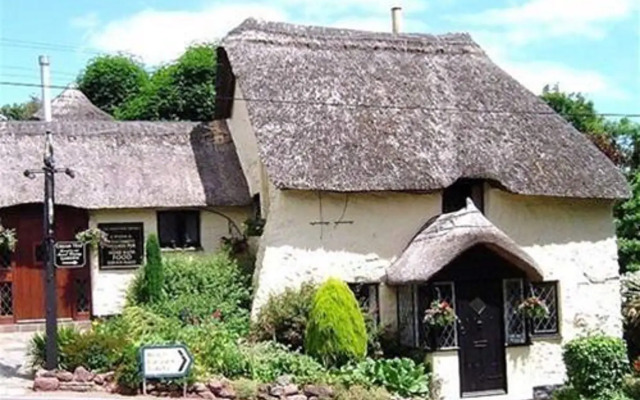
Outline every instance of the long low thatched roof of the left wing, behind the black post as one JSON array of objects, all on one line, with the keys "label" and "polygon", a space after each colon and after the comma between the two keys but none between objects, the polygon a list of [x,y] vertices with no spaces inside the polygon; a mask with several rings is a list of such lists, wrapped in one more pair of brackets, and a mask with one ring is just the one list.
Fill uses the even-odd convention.
[{"label": "long low thatched roof of the left wing, behind the black post", "polygon": [[44,133],[56,164],[76,172],[56,179],[56,203],[142,208],[250,204],[226,123],[54,121],[0,122],[0,207],[42,201]]}]

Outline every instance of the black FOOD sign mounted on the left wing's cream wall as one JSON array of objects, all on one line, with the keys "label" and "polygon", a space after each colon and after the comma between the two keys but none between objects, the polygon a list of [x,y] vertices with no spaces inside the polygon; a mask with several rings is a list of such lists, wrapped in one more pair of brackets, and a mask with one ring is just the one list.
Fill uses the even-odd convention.
[{"label": "black FOOD sign mounted on the left wing's cream wall", "polygon": [[142,264],[144,227],[142,223],[98,224],[107,234],[100,246],[100,268],[134,268]]}]

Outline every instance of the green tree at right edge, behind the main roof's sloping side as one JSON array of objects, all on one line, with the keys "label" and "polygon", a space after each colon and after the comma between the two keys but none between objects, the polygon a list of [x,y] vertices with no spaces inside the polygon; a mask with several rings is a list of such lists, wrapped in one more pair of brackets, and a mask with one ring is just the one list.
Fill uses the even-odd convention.
[{"label": "green tree at right edge, behind the main roof's sloping side", "polygon": [[620,272],[640,270],[640,124],[622,118],[607,120],[593,102],[557,86],[543,90],[542,100],[589,139],[626,175],[631,198],[614,209]]}]

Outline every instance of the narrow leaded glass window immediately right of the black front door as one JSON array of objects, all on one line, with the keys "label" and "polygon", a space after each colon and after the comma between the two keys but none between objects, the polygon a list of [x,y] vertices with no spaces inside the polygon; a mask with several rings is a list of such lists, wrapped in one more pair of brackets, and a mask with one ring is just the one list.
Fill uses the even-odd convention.
[{"label": "narrow leaded glass window immediately right of the black front door", "polygon": [[502,281],[504,298],[504,329],[507,345],[527,343],[527,321],[518,311],[524,300],[524,282],[522,279]]}]

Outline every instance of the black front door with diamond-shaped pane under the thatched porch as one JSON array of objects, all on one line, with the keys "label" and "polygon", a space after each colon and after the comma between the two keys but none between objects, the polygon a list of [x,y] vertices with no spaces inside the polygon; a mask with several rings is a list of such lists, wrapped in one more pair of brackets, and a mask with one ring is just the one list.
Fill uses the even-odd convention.
[{"label": "black front door with diamond-shaped pane under the thatched porch", "polygon": [[501,288],[500,281],[456,282],[463,395],[506,392]]}]

